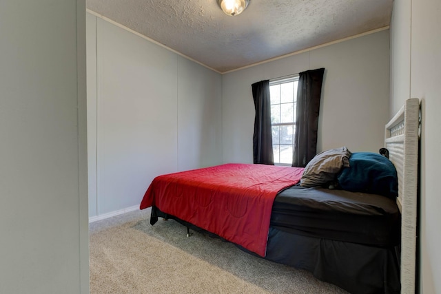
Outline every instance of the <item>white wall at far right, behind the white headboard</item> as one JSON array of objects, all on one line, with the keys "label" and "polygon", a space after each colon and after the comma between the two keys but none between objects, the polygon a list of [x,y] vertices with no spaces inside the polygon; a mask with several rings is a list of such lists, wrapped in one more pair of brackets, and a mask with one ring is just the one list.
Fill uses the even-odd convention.
[{"label": "white wall at far right, behind the white headboard", "polygon": [[[394,112],[406,98],[421,99],[420,159],[420,293],[441,293],[441,198],[439,169],[441,165],[441,2],[439,0],[394,1],[391,31],[391,79],[394,85],[409,84],[403,96],[393,93]],[[409,40],[396,41],[397,36]],[[396,70],[397,63],[409,67],[405,75]],[[401,91],[400,91],[401,92]],[[408,96],[405,93],[409,93]]]}]

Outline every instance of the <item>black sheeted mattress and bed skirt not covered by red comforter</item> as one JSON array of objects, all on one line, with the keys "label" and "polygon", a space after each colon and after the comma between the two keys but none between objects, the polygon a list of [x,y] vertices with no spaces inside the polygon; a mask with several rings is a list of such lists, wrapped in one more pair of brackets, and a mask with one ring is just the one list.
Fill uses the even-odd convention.
[{"label": "black sheeted mattress and bed skirt not covered by red comforter", "polygon": [[265,258],[350,293],[398,294],[400,224],[391,198],[294,186],[274,200]]}]

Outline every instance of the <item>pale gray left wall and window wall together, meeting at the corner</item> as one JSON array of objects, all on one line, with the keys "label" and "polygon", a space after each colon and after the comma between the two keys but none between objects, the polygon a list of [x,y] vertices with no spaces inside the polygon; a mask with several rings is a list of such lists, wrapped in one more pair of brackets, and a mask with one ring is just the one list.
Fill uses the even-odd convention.
[{"label": "pale gray left wall and window wall together, meeting at the corner", "polygon": [[265,78],[325,67],[318,151],[382,147],[389,30],[222,76],[87,17],[90,217],[136,209],[160,174],[252,162],[251,84]]}]

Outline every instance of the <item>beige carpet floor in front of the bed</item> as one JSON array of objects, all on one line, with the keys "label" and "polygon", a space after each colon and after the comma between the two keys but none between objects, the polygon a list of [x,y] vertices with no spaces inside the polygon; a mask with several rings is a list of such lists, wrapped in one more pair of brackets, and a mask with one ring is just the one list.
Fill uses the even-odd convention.
[{"label": "beige carpet floor in front of the bed", "polygon": [[347,293],[150,209],[90,224],[90,293]]}]

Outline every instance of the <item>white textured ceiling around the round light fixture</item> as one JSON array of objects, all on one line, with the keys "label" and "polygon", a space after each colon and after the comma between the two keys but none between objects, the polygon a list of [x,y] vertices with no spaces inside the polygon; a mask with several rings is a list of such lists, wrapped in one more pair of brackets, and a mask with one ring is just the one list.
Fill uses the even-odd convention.
[{"label": "white textured ceiling around the round light fixture", "polygon": [[387,27],[393,0],[86,0],[87,8],[218,72]]}]

